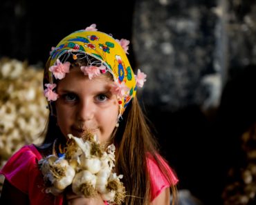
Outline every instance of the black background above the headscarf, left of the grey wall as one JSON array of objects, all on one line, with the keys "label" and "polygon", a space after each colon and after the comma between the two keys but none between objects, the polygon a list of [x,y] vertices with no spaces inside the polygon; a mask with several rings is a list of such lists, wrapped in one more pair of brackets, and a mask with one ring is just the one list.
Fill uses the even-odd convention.
[{"label": "black background above the headscarf, left of the grey wall", "polygon": [[1,1],[0,55],[46,62],[62,37],[92,23],[118,39],[131,39],[134,1]]}]

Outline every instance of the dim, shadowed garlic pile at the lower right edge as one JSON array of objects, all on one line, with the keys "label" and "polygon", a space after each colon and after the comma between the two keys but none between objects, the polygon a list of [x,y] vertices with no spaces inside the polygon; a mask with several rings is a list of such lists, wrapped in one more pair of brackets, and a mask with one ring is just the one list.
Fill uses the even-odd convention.
[{"label": "dim, shadowed garlic pile at the lower right edge", "polygon": [[256,199],[256,123],[241,135],[240,160],[228,170],[222,198],[225,205],[255,204]]}]

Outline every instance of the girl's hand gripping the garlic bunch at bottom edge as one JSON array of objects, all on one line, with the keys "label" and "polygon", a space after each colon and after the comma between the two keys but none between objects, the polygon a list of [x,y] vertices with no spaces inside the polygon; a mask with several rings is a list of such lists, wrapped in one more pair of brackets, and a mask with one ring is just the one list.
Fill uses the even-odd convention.
[{"label": "girl's hand gripping the garlic bunch at bottom edge", "polygon": [[104,205],[103,199],[100,195],[93,198],[86,198],[75,195],[74,193],[66,193],[66,200],[68,205]]}]

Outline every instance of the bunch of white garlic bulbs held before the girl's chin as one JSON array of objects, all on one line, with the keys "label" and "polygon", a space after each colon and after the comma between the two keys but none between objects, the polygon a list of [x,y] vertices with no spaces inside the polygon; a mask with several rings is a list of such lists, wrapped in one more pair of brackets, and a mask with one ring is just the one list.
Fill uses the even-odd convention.
[{"label": "bunch of white garlic bulbs held before the girl's chin", "polygon": [[121,204],[125,198],[122,175],[113,173],[115,146],[104,151],[97,136],[86,133],[82,138],[68,135],[65,154],[62,157],[48,155],[39,161],[44,175],[47,193],[58,195],[67,186],[73,193],[94,197],[100,194],[109,204]]}]

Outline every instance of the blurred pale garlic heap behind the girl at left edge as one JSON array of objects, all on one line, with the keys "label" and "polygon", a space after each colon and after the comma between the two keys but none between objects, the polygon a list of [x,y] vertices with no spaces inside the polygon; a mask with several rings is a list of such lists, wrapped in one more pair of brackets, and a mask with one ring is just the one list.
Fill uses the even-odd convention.
[{"label": "blurred pale garlic heap behind the girl at left edge", "polygon": [[[48,116],[44,69],[0,59],[0,168],[16,150],[39,139]],[[0,176],[0,193],[3,175]]]}]

